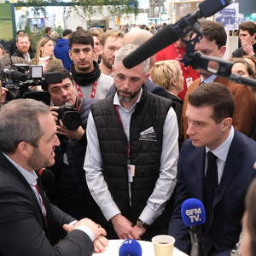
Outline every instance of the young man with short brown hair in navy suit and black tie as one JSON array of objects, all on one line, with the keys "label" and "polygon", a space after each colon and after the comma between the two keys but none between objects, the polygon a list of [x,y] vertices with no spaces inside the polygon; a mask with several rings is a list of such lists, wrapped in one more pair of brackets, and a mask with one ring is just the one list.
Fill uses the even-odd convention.
[{"label": "young man with short brown hair in navy suit and black tie", "polygon": [[[189,94],[186,116],[190,138],[183,144],[178,160],[177,194],[168,230],[176,239],[175,246],[186,253],[191,244],[181,205],[188,198],[197,198],[206,207],[204,255],[230,255],[239,240],[244,198],[255,177],[256,143],[234,129],[233,113],[234,98],[223,84],[201,84]],[[207,192],[208,152],[216,158],[211,199]]]}]

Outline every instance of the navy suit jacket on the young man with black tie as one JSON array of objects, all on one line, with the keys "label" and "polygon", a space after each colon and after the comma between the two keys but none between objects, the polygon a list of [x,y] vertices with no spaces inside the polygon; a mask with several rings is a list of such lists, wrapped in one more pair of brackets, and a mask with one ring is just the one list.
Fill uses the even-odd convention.
[{"label": "navy suit jacket on the young man with black tie", "polygon": [[[188,198],[204,201],[205,147],[195,148],[188,139],[181,150],[177,164],[177,194],[168,233],[175,237],[175,246],[189,253],[189,229],[181,218],[181,205]],[[217,253],[230,256],[230,250],[236,246],[241,232],[241,218],[244,212],[244,200],[247,188],[255,170],[256,143],[235,131],[218,193],[212,206],[210,236],[205,236],[205,255],[213,245]],[[212,241],[211,241],[212,240]]]}]

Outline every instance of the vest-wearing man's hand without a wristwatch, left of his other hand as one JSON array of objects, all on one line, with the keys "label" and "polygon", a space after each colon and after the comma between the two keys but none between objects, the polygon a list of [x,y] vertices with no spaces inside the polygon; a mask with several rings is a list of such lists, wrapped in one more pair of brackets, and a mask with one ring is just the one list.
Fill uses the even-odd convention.
[{"label": "vest-wearing man's hand without a wristwatch, left of his other hand", "polygon": [[132,223],[128,218],[119,213],[111,218],[111,222],[119,239],[135,239],[131,234]]}]

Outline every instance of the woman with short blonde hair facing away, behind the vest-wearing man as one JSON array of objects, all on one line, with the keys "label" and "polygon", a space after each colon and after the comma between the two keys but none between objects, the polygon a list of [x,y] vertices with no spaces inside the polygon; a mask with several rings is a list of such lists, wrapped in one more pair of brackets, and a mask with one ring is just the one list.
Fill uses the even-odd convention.
[{"label": "woman with short blonde hair facing away, behind the vest-wearing man", "polygon": [[[183,72],[177,61],[159,61],[150,69],[150,77],[154,84],[163,87],[173,102],[173,108],[177,115],[177,124],[180,131],[181,114],[183,111],[183,101],[177,94],[183,90]],[[181,146],[182,138],[179,137]]]}]

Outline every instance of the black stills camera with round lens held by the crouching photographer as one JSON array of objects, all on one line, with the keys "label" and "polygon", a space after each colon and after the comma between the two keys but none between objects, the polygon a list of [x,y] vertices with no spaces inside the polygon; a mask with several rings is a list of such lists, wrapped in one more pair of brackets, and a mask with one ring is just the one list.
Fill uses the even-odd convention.
[{"label": "black stills camera with round lens held by the crouching photographer", "polygon": [[61,106],[55,111],[59,113],[58,119],[62,121],[67,130],[76,131],[82,125],[80,113],[72,106]]}]

